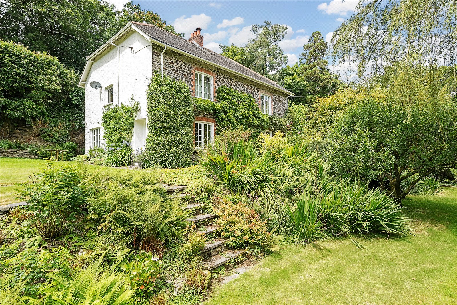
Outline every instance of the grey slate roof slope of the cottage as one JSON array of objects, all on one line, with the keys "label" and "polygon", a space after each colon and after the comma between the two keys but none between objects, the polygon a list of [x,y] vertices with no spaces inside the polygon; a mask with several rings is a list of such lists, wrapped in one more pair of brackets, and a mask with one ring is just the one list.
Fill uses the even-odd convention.
[{"label": "grey slate roof slope of the cottage", "polygon": [[269,87],[274,87],[280,91],[283,91],[283,92],[285,91],[285,92],[289,92],[290,94],[292,94],[292,92],[279,86],[276,82],[273,82],[271,79],[268,79],[265,76],[262,76],[259,73],[252,71],[251,69],[245,67],[244,65],[237,63],[236,61],[234,61],[228,57],[225,57],[221,54],[213,52],[210,49],[206,49],[204,47],[203,48],[199,47],[197,44],[194,44],[184,38],[181,38],[175,34],[167,32],[152,24],[133,22],[133,21],[132,21],[132,24],[134,24],[136,27],[138,27],[141,31],[143,31],[145,34],[147,34],[150,38],[153,38],[153,39],[161,42],[162,44],[166,44],[166,45],[169,45],[176,49],[180,49],[181,51],[190,53],[190,54],[195,55],[204,60],[208,60],[214,64],[221,65],[229,70],[233,70],[233,71],[241,73],[245,76],[254,78],[257,81],[265,83]]}]

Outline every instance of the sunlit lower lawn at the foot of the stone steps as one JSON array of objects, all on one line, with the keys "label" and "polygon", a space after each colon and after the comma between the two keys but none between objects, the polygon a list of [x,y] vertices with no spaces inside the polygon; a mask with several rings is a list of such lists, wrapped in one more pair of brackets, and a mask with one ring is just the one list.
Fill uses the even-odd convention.
[{"label": "sunlit lower lawn at the foot of the stone steps", "polygon": [[404,206],[415,236],[286,245],[205,304],[457,304],[457,188]]}]

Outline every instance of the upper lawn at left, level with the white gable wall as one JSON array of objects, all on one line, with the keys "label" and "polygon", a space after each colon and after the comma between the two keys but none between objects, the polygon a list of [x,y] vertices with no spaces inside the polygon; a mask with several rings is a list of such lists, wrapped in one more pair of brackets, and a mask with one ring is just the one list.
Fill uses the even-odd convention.
[{"label": "upper lawn at left, level with the white gable wall", "polygon": [[[26,158],[0,158],[0,205],[18,202],[17,191],[22,189],[18,183],[29,180],[29,176],[46,167],[47,160]],[[56,162],[57,163],[57,162]],[[61,164],[62,162],[58,162]],[[69,163],[64,161],[64,163]],[[87,165],[106,172],[123,171],[127,169],[110,168],[106,166]]]}]

